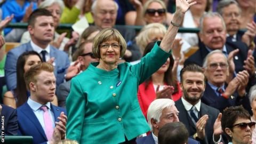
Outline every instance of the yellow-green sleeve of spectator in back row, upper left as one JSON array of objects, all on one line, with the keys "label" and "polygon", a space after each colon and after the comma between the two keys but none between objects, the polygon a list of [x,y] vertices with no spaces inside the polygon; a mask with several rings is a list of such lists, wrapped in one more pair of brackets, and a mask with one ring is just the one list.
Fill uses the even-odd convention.
[{"label": "yellow-green sleeve of spectator in back row, upper left", "polygon": [[68,7],[64,7],[60,23],[75,23],[80,14],[80,10],[77,7],[73,6],[72,9],[68,9]]}]

